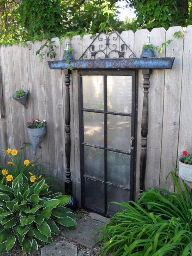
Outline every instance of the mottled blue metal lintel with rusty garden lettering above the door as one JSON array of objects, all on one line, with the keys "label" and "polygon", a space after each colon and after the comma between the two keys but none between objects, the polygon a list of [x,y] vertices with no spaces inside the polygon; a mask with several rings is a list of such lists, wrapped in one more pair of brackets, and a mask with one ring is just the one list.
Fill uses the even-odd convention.
[{"label": "mottled blue metal lintel with rusty garden lettering above the door", "polygon": [[75,59],[48,61],[50,69],[171,69],[175,58]]}]

